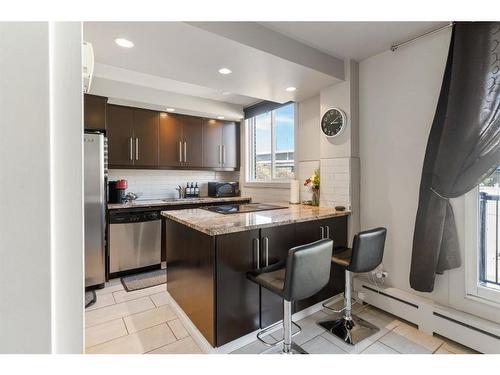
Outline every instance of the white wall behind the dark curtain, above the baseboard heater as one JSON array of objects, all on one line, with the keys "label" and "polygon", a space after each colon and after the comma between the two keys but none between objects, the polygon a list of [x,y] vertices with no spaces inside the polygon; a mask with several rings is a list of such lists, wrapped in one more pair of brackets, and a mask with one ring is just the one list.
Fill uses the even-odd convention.
[{"label": "white wall behind the dark curtain, above the baseboard heater", "polygon": [[[463,293],[464,267],[438,275],[430,294],[417,293],[409,285],[420,177],[450,35],[450,30],[443,31],[360,63],[361,228],[388,229],[383,260],[388,285],[460,307],[456,290]],[[452,204],[463,254],[464,198]],[[458,284],[451,281],[457,274],[462,280]],[[498,310],[481,303],[462,309],[500,320]]]}]

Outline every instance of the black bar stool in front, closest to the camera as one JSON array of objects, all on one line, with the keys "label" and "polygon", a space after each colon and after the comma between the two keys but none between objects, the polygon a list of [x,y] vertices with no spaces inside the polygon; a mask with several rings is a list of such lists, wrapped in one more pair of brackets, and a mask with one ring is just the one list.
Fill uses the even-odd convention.
[{"label": "black bar stool in front, closest to the camera", "polygon": [[[283,298],[283,322],[275,323],[259,332],[257,338],[282,353],[307,354],[292,342],[292,302],[319,292],[330,279],[333,241],[319,240],[288,250],[286,260],[247,273],[250,280]],[[278,324],[283,324],[283,340],[269,344],[261,336]],[[297,325],[296,325],[297,326]],[[299,327],[300,329],[300,327]],[[276,350],[278,352],[278,350]]]}]

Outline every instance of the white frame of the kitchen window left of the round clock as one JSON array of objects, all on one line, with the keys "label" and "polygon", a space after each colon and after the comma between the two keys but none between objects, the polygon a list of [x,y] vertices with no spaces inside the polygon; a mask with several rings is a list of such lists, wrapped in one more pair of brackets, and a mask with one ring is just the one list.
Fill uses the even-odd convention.
[{"label": "white frame of the kitchen window left of the round clock", "polygon": [[[276,111],[282,107],[275,108],[271,111],[264,112],[271,114],[271,179],[269,180],[255,180],[252,179],[254,176],[254,157],[253,152],[255,145],[255,137],[253,136],[253,130],[256,124],[256,117],[251,117],[245,120],[245,186],[247,187],[269,187],[269,188],[286,188],[290,186],[290,181],[296,178],[297,172],[297,103],[287,103],[285,105],[293,106],[293,153],[294,153],[294,177],[291,178],[276,178],[276,129],[275,129],[275,117]],[[262,113],[263,114],[263,113]]]}]

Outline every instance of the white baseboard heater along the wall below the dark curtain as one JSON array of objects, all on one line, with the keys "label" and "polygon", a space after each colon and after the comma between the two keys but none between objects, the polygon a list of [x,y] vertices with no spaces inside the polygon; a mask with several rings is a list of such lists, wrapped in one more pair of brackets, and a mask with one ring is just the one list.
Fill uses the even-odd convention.
[{"label": "white baseboard heater along the wall below the dark curtain", "polygon": [[354,279],[357,298],[428,334],[438,334],[481,353],[500,353],[500,324],[467,314],[397,288],[380,287]]}]

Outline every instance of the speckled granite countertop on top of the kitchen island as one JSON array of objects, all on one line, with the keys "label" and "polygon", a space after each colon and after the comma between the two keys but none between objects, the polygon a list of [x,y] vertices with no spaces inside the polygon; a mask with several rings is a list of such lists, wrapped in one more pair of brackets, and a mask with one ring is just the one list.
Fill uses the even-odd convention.
[{"label": "speckled granite countertop on top of the kitchen island", "polygon": [[282,204],[286,208],[223,215],[200,208],[162,211],[163,217],[177,221],[210,236],[242,232],[245,230],[270,228],[310,220],[328,219],[350,215],[351,211],[337,211],[330,207],[314,207],[302,204]]}]

